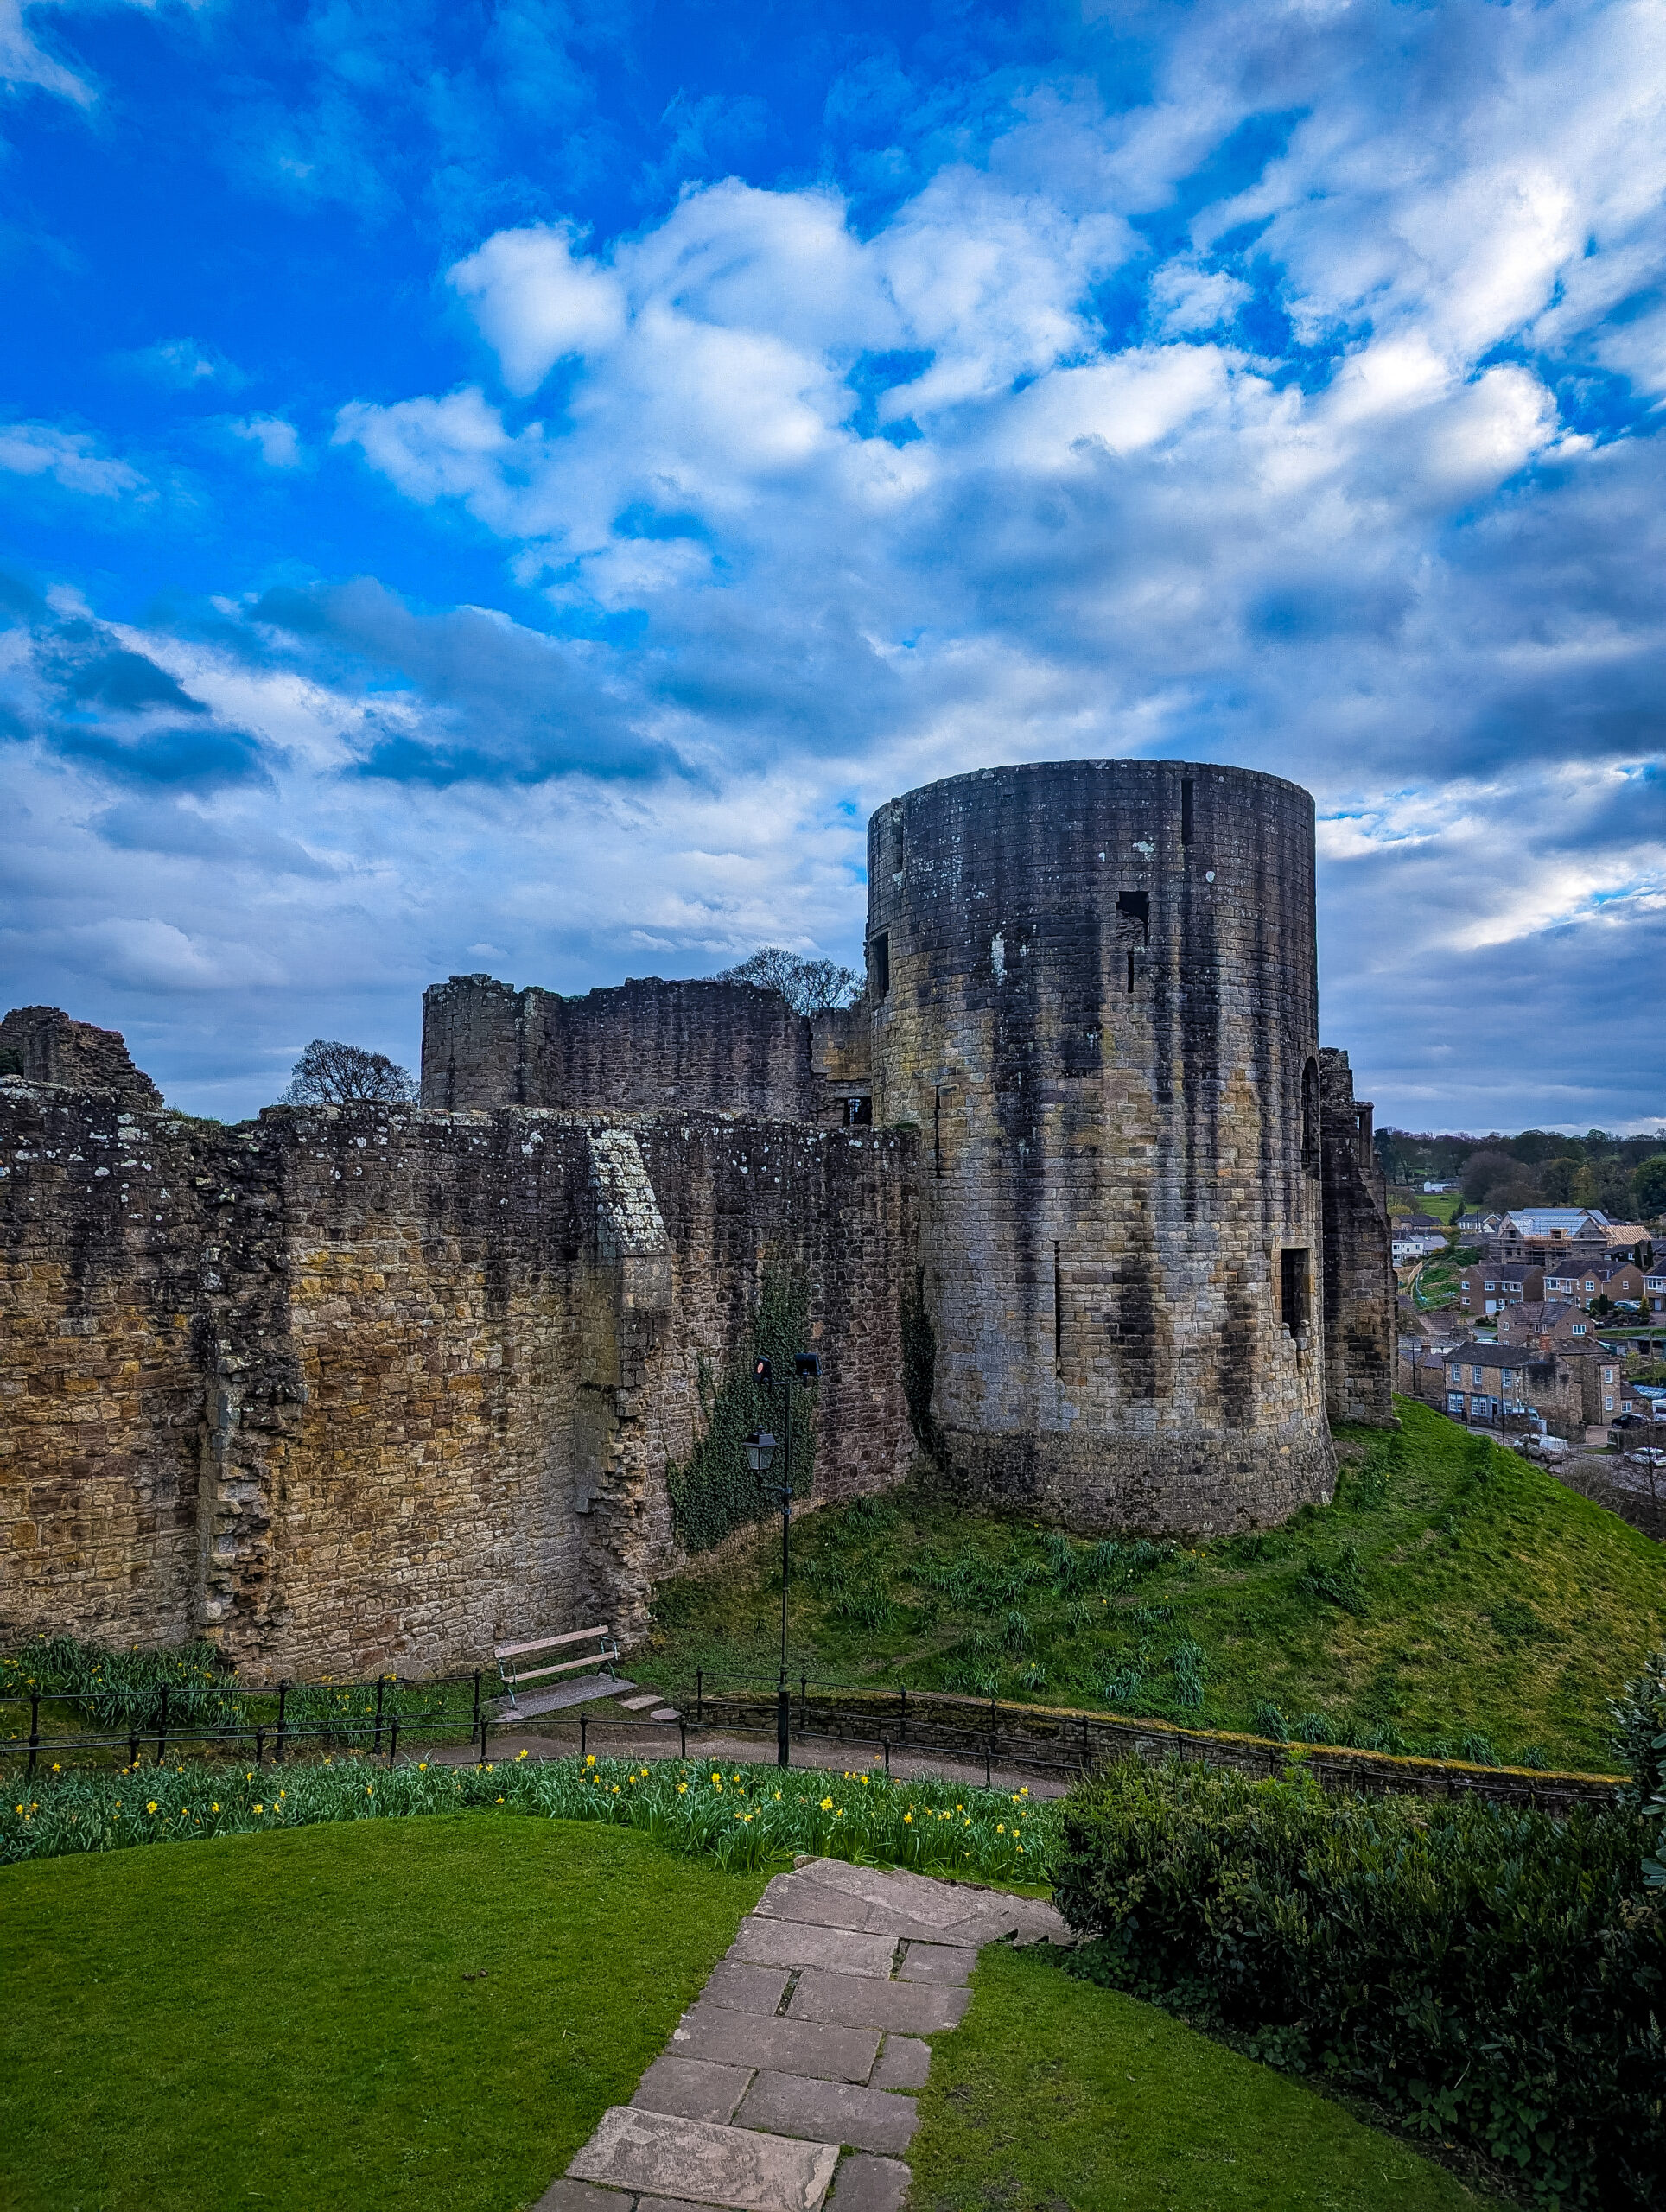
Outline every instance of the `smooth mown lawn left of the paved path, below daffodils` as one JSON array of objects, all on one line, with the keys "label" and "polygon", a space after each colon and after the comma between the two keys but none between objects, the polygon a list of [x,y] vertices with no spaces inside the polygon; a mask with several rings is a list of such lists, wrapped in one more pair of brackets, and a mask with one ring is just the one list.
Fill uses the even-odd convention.
[{"label": "smooth mown lawn left of the paved path, below daffodils", "polygon": [[763,1876],[491,1812],[0,1871],[7,2212],[511,2212]]}]

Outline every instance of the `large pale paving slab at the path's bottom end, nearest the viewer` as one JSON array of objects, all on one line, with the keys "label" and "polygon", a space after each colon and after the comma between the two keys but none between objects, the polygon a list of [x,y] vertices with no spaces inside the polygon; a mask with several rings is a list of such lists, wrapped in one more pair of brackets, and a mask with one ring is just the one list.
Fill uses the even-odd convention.
[{"label": "large pale paving slab at the path's bottom end, nearest the viewer", "polygon": [[569,2174],[642,2197],[677,2190],[688,2203],[732,2212],[821,2212],[836,2163],[836,2141],[792,2141],[615,2104]]}]

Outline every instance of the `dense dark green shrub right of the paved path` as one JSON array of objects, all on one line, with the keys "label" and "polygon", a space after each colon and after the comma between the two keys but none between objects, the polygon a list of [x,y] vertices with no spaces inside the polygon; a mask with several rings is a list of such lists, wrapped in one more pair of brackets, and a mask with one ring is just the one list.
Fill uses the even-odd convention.
[{"label": "dense dark green shrub right of the paved path", "polygon": [[1064,1809],[1077,1971],[1520,2170],[1538,2203],[1666,2203],[1666,1898],[1639,1809],[1325,1794],[1190,1763]]}]

